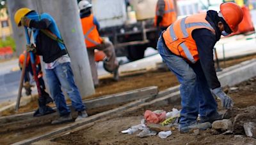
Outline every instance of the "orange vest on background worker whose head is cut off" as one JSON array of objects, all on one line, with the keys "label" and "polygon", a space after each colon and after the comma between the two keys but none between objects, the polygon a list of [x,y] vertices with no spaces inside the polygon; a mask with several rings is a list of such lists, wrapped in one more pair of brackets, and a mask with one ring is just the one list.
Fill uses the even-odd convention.
[{"label": "orange vest on background worker whose head is cut off", "polygon": [[[159,26],[168,27],[177,19],[177,13],[174,9],[173,0],[164,0],[164,15],[163,20],[160,22]],[[158,6],[156,6],[156,16],[155,16],[155,25],[157,22],[158,16]]]}]

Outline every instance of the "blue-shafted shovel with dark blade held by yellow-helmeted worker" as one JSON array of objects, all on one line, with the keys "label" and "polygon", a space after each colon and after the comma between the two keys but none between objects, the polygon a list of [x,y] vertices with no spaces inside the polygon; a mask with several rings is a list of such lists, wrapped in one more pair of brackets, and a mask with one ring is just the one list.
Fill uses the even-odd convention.
[{"label": "blue-shafted shovel with dark blade held by yellow-helmeted worker", "polygon": [[[30,38],[28,35],[28,28],[25,28],[25,34],[26,34],[26,39],[27,39],[27,45],[31,45],[30,44]],[[32,66],[32,70],[33,70],[33,76],[36,82],[36,88],[37,88],[37,92],[38,92],[38,109],[35,111],[34,116],[43,116],[45,114],[50,114],[50,113],[54,113],[54,109],[52,109],[51,107],[47,106],[47,99],[44,96],[44,94],[42,94],[42,90],[40,88],[40,83],[38,81],[38,76],[36,74],[36,64],[35,64],[35,57],[34,57],[34,53],[32,51],[29,51],[29,55],[30,55],[30,60],[31,60],[31,66]]]}]

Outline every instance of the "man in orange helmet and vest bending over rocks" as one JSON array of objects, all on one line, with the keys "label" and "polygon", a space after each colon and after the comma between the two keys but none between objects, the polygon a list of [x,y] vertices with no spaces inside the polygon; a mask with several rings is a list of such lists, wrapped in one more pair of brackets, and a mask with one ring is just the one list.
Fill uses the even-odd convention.
[{"label": "man in orange helmet and vest bending over rocks", "polygon": [[243,11],[237,4],[223,3],[219,13],[209,10],[182,18],[161,34],[157,50],[180,82],[180,133],[191,128],[205,130],[212,121],[222,119],[212,93],[221,100],[222,107],[233,106],[216,76],[213,48],[221,34],[236,32],[242,19]]}]

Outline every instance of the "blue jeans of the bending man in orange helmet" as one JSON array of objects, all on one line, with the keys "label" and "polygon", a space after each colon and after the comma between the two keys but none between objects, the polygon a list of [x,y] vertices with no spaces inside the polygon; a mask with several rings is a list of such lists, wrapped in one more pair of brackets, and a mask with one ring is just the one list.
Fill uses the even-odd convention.
[{"label": "blue jeans of the bending man in orange helmet", "polygon": [[198,113],[204,118],[217,113],[216,100],[207,84],[200,61],[189,64],[182,57],[173,54],[162,37],[157,42],[157,50],[180,82],[180,128],[195,123]]}]

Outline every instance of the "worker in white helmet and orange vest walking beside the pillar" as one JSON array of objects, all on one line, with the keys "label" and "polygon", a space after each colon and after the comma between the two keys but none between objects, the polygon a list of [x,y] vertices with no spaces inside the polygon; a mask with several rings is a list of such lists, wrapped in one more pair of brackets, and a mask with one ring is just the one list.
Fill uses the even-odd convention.
[{"label": "worker in white helmet and orange vest walking beside the pillar", "polygon": [[99,23],[92,14],[92,4],[88,1],[82,0],[78,3],[80,10],[81,24],[83,27],[84,41],[86,43],[87,52],[89,56],[92,78],[94,86],[99,85],[97,68],[95,66],[94,50],[102,50],[106,59],[103,61],[104,69],[113,73],[115,81],[118,80],[118,61],[116,60],[115,49],[113,44],[108,39],[102,39],[99,35]]}]

